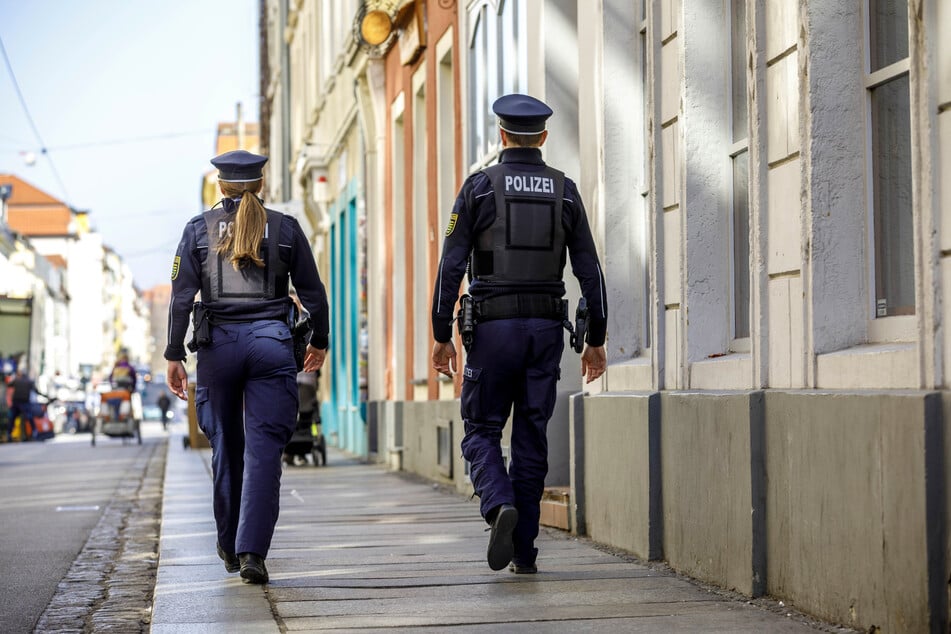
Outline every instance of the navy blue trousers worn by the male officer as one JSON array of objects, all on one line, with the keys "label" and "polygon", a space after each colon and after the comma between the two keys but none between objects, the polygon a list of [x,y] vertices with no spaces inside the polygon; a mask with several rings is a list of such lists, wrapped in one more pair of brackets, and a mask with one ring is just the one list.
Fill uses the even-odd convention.
[{"label": "navy blue trousers worn by the male officer", "polygon": [[[535,561],[540,503],[548,475],[548,419],[555,409],[565,347],[559,321],[498,319],[475,328],[462,384],[462,455],[482,516],[500,504],[518,509],[515,561]],[[512,414],[508,471],[502,429]]]}]

